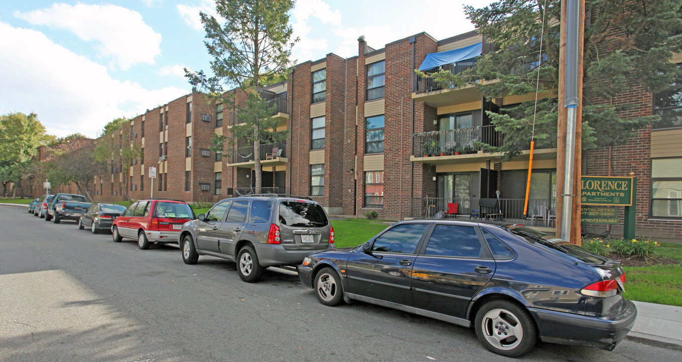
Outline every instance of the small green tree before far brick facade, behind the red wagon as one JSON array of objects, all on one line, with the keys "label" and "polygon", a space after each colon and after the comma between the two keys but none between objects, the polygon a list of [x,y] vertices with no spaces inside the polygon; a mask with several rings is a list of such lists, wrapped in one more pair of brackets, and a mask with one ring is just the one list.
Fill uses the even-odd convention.
[{"label": "small green tree before far brick facade, behind the red wagon", "polygon": [[142,148],[130,141],[130,120],[121,117],[106,124],[102,130],[102,137],[97,140],[93,152],[96,161],[104,165],[121,166],[123,196],[128,201],[132,201],[128,194],[130,167],[133,160],[142,156]]}]

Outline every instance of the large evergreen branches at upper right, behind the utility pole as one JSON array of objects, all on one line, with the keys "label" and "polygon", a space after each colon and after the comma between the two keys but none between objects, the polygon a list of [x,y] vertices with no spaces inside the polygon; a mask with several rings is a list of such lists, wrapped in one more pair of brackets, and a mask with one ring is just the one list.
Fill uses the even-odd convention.
[{"label": "large evergreen branches at upper right, behind the utility pole", "polygon": [[[673,53],[682,51],[682,1],[587,0],[586,8],[590,17],[584,34],[582,148],[621,145],[632,130],[654,122],[657,116],[632,117],[627,109],[633,105],[614,105],[611,99],[634,85],[659,92],[682,75],[670,62]],[[563,106],[556,96],[561,2],[501,0],[484,8],[467,6],[465,12],[497,50],[481,55],[473,68],[458,76],[441,72],[434,78],[445,85],[476,83],[486,98],[496,98],[535,93],[539,72],[535,141],[541,147],[553,145]],[[479,79],[499,81],[477,83]],[[488,115],[505,134],[505,144],[490,150],[511,157],[528,149],[534,101]]]}]

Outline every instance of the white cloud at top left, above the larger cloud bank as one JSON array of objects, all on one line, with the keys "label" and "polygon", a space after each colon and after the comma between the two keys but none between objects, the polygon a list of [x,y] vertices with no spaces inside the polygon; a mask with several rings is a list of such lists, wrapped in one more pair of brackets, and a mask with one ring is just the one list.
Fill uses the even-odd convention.
[{"label": "white cloud at top left, above the larger cloud bank", "polygon": [[138,63],[154,64],[154,57],[161,53],[161,34],[145,24],[140,13],[120,6],[55,3],[52,8],[14,12],[14,16],[99,42],[100,55],[115,59],[123,70]]}]

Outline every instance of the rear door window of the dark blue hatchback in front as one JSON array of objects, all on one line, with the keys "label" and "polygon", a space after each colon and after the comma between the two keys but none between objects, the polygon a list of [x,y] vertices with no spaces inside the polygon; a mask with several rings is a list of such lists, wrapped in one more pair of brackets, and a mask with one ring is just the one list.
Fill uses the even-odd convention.
[{"label": "rear door window of the dark blue hatchback in front", "polygon": [[479,257],[481,242],[471,226],[436,225],[426,245],[426,255]]}]

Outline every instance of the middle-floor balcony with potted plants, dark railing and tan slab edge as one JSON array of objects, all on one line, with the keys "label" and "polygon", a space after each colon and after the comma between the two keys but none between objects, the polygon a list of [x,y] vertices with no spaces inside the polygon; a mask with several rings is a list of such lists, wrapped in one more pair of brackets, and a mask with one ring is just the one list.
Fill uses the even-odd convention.
[{"label": "middle-floor balcony with potted plants, dark railing and tan slab edge", "polygon": [[[483,144],[500,147],[505,144],[505,135],[495,126],[477,126],[457,130],[437,130],[415,133],[412,136],[413,162],[428,165],[453,165],[456,163],[479,163],[503,156],[502,152],[485,152]],[[530,144],[518,155],[517,160],[530,158]],[[533,158],[556,158],[556,140],[536,143]]]}]

